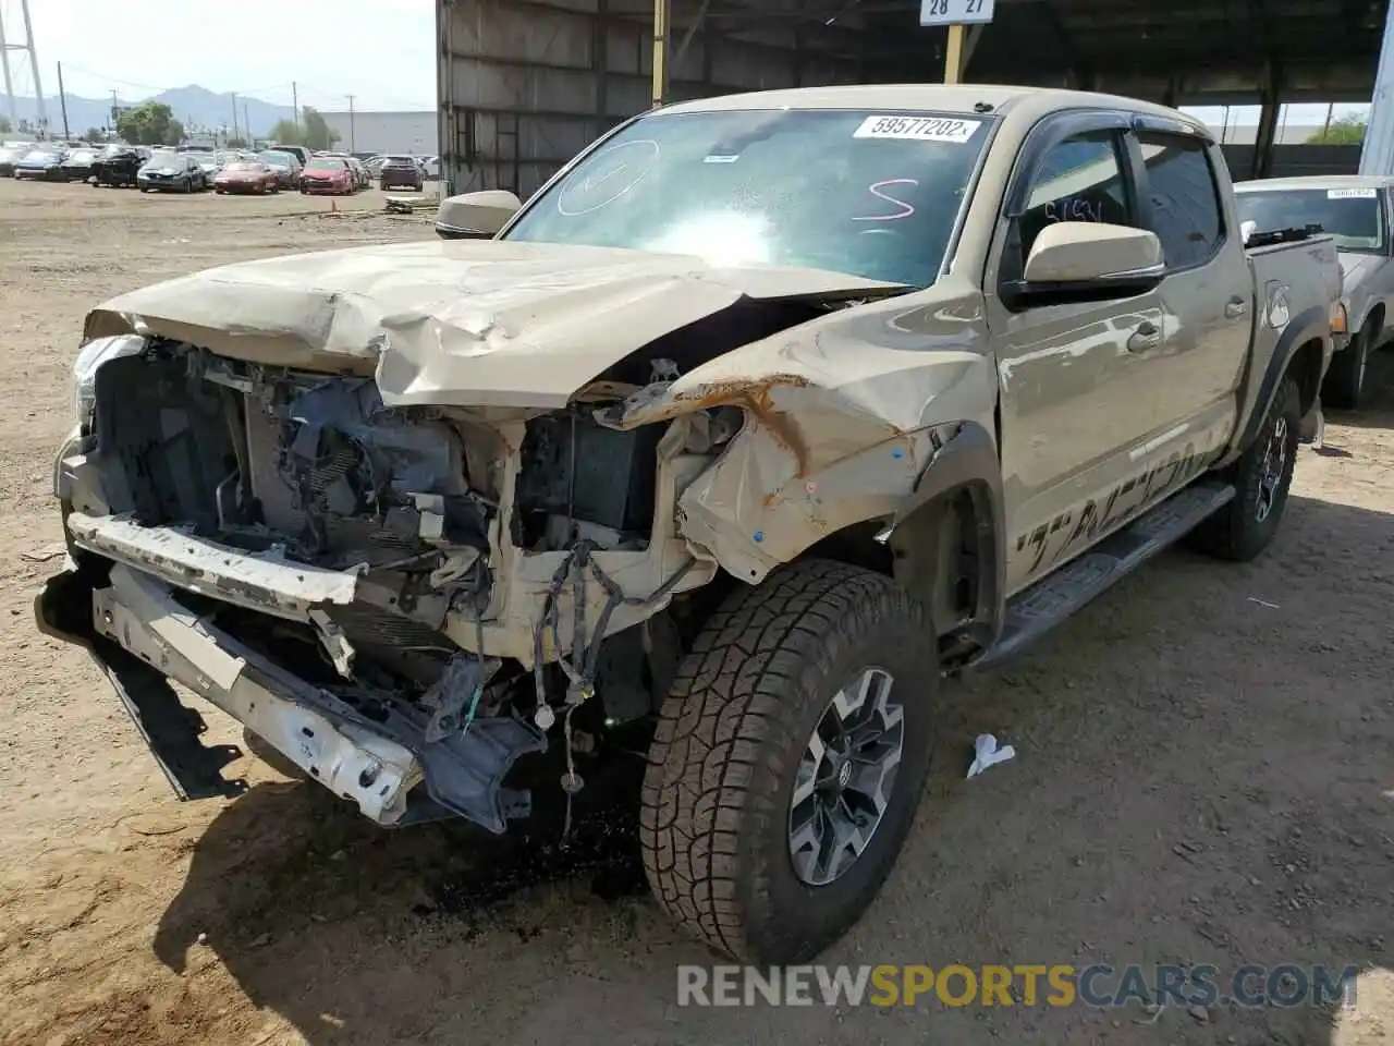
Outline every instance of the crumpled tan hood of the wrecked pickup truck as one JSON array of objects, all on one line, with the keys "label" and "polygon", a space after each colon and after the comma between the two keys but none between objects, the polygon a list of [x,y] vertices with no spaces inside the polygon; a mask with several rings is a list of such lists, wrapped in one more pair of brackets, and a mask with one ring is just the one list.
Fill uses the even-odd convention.
[{"label": "crumpled tan hood of the wrecked pickup truck", "polygon": [[438,240],[158,283],[93,310],[84,342],[138,333],[254,363],[374,374],[388,406],[556,407],[644,344],[742,297],[875,290],[899,287],[691,255]]}]

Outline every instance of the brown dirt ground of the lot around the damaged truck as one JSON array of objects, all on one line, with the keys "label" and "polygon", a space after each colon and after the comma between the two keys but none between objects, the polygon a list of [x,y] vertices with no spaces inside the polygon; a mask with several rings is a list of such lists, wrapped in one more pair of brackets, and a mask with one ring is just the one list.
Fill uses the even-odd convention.
[{"label": "brown dirt ground of the lot around the damaged truck", "polygon": [[[0,180],[0,1040],[1394,1042],[1394,392],[1302,450],[1259,562],[1170,552],[948,688],[906,851],[825,957],[1356,964],[1351,1010],[680,1008],[675,967],[714,958],[645,895],[623,820],[565,852],[549,828],[386,833],[247,759],[245,796],[177,803],[95,667],[31,619],[61,562],[70,365],[112,294],[431,234],[329,209]],[[1372,379],[1394,389],[1394,353]],[[986,731],[1018,759],[965,781]]]}]

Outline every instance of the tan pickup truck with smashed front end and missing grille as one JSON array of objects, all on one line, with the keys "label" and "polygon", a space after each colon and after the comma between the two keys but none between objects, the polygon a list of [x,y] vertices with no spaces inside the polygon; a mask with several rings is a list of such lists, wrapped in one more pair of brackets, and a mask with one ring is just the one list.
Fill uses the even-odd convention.
[{"label": "tan pickup truck with smashed front end and missing grille", "polygon": [[875,895],[942,676],[1269,544],[1341,293],[1103,95],[676,105],[499,201],[96,308],[39,619],[190,796],[237,750],[170,679],[385,826],[503,831],[647,731],[654,891],[761,961]]}]

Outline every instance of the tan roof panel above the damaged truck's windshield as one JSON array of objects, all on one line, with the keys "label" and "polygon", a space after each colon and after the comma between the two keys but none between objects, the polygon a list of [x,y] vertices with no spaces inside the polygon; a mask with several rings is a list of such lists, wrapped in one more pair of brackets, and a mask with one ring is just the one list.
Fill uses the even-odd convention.
[{"label": "tan roof panel above the damaged truck's windshield", "polygon": [[1178,120],[1206,134],[1202,121],[1177,109],[1140,102],[1121,95],[1101,95],[1090,91],[1064,88],[1008,86],[1002,84],[852,84],[842,86],[786,88],[781,91],[751,91],[742,95],[719,95],[665,106],[664,113],[711,113],[740,109],[923,109],[941,113],[1006,113],[1029,102],[1033,109],[1124,109]]}]

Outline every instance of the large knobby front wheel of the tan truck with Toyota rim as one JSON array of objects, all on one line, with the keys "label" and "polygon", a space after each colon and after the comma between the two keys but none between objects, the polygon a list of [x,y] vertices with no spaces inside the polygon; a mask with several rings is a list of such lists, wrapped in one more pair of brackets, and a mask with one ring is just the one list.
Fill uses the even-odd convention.
[{"label": "large knobby front wheel of the tan truck with Toyota rim", "polygon": [[923,608],[860,568],[804,561],[732,593],[664,702],[644,775],[664,909],[750,962],[802,962],[846,933],[924,789],[934,650]]}]

